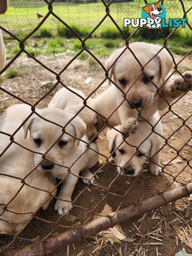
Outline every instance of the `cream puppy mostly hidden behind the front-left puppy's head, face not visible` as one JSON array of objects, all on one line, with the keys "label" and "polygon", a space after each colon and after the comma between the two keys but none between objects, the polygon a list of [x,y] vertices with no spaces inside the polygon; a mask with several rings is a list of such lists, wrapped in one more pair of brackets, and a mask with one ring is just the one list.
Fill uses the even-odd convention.
[{"label": "cream puppy mostly hidden behind the front-left puppy's head, face not visible", "polygon": [[[74,91],[81,97],[78,97],[75,93],[69,91]],[[57,93],[55,93],[53,99],[49,103],[49,108],[60,108],[65,109],[72,114],[77,114],[77,112],[84,106],[83,101],[86,98],[83,92],[76,90],[72,87],[62,88]],[[93,108],[91,99],[87,100],[87,105]],[[78,116],[85,122],[87,126],[86,135],[89,140],[91,140],[97,134],[97,114],[85,107],[81,110]],[[94,138],[97,140],[97,137]]]}]

